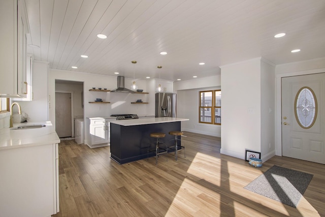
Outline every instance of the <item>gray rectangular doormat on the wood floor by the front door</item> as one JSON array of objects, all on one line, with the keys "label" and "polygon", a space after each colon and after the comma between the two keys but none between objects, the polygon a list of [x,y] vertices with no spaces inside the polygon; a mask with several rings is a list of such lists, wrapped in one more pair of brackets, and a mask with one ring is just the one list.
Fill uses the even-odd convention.
[{"label": "gray rectangular doormat on the wood floor by the front door", "polygon": [[297,207],[312,177],[312,174],[274,165],[247,184],[244,189]]}]

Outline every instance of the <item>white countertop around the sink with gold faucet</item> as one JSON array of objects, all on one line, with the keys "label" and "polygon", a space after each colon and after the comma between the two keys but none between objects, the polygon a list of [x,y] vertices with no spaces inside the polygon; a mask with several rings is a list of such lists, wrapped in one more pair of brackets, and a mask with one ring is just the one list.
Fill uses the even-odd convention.
[{"label": "white countertop around the sink with gold faucet", "polygon": [[[12,130],[23,125],[42,124],[46,127],[35,129]],[[0,150],[59,143],[51,121],[14,123],[13,128],[0,130]]]}]

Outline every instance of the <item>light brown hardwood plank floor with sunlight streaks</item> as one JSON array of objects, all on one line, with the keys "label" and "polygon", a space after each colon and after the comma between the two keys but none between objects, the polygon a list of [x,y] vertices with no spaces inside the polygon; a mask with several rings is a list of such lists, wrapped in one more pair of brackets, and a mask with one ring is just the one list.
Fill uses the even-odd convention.
[{"label": "light brown hardwood plank floor with sunlight streaks", "polygon": [[[273,157],[262,168],[220,154],[220,138],[184,132],[174,155],[119,165],[110,147],[59,144],[60,216],[325,216],[325,165]],[[313,174],[298,207],[244,187],[273,165]]]}]

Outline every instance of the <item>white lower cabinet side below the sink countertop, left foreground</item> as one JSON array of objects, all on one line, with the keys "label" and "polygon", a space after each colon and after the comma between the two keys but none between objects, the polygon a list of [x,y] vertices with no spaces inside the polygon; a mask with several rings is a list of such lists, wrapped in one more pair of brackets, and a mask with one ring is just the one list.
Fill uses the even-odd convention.
[{"label": "white lower cabinet side below the sink countertop, left foreground", "polygon": [[59,211],[58,144],[0,150],[0,216]]}]

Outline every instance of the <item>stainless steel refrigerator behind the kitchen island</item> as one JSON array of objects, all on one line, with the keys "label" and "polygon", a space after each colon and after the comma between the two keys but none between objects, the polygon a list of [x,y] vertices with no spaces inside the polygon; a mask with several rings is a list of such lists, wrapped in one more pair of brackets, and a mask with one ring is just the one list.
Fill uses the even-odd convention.
[{"label": "stainless steel refrigerator behind the kitchen island", "polygon": [[155,104],[156,117],[176,117],[176,94],[157,92]]}]

